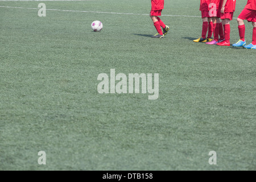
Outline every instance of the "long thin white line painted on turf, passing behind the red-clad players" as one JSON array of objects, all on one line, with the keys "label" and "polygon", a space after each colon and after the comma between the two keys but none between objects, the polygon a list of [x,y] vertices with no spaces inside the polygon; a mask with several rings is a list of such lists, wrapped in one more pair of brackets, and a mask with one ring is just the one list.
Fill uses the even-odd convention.
[{"label": "long thin white line painted on turf, passing behind the red-clad players", "polygon": [[[0,7],[13,8],[13,9],[31,9],[31,10],[39,10],[40,9],[40,8],[35,8],[35,7],[13,7],[13,6],[0,6]],[[47,11],[77,12],[77,13],[105,13],[105,14],[146,15],[146,16],[149,15],[149,14],[135,14],[135,13],[115,13],[115,12],[104,12],[104,11],[79,11],[79,10],[57,10],[57,9],[46,9],[46,10]],[[191,16],[191,15],[162,15],[162,16],[180,16],[180,17],[196,17],[196,18],[201,18],[201,16]]]}]

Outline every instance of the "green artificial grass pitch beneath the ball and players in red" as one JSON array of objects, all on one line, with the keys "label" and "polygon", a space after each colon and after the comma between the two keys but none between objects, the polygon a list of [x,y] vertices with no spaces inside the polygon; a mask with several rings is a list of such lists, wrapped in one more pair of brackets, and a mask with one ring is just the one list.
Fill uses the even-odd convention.
[{"label": "green artificial grass pitch beneath the ball and players in red", "polygon": [[[1,170],[256,169],[256,51],[194,43],[199,1],[165,2],[164,39],[149,0],[42,1],[45,17],[39,3],[0,0]],[[159,98],[98,93],[110,69],[159,73]]]}]

